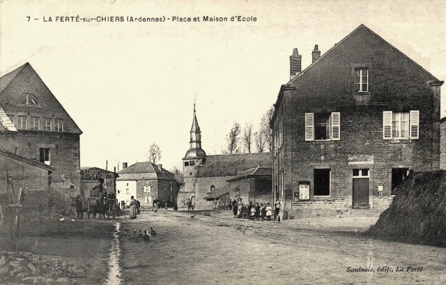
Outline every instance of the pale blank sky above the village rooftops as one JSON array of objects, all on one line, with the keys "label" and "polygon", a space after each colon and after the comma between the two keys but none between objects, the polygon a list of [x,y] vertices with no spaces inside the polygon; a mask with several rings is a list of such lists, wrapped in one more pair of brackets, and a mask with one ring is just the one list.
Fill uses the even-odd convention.
[{"label": "pale blank sky above the village rooftops", "polygon": [[[84,132],[81,166],[145,161],[155,141],[163,167],[180,167],[194,102],[203,149],[221,154],[234,122],[257,128],[272,107],[294,47],[303,69],[315,44],[324,54],[360,24],[446,77],[443,1],[89,2],[0,2],[0,75],[31,63]],[[77,15],[166,22],[56,22]],[[256,22],[202,22],[233,15]]]}]

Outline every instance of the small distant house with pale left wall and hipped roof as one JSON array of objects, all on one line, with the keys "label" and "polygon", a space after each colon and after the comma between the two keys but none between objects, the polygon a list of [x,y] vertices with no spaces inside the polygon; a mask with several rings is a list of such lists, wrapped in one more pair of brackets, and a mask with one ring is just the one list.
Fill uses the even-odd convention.
[{"label": "small distant house with pale left wall and hipped roof", "polygon": [[175,175],[162,168],[162,164],[137,162],[118,172],[116,178],[116,199],[128,205],[130,197],[139,200],[143,206],[152,206],[153,200],[169,202],[174,206],[178,195]]}]

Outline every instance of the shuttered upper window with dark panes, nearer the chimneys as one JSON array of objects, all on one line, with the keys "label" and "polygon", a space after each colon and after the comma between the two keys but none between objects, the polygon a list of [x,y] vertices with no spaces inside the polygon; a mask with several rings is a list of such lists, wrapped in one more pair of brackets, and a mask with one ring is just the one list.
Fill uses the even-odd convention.
[{"label": "shuttered upper window with dark panes, nearer the chimneys", "polygon": [[341,139],[341,113],[305,113],[305,141]]}]

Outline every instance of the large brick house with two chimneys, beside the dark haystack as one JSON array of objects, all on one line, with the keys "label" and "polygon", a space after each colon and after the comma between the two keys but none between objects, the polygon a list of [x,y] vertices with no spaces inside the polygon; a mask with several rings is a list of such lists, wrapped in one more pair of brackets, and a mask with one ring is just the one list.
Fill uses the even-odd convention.
[{"label": "large brick house with two chimneys, beside the dark haystack", "polygon": [[291,212],[385,208],[410,171],[440,164],[440,82],[360,25],[280,88],[273,195]]}]

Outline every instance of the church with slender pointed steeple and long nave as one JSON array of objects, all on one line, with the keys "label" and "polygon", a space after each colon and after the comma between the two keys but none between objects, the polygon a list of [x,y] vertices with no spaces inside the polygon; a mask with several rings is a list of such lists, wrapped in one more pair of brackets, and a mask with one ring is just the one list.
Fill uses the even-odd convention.
[{"label": "church with slender pointed steeple and long nave", "polygon": [[[190,129],[190,148],[183,157],[184,183],[178,192],[178,208],[187,208],[187,199],[191,199],[194,207],[198,209],[224,208],[229,199],[238,198],[243,194],[248,197],[249,187],[252,187],[253,191],[261,190],[263,192],[269,188],[270,192],[271,180],[263,179],[264,175],[252,177],[251,184],[245,183],[242,189],[239,187],[238,190],[235,187],[231,189],[228,181],[238,178],[237,174],[240,174],[240,171],[254,172],[256,167],[270,166],[271,153],[206,155],[206,152],[201,148],[201,130],[194,107],[192,128]],[[248,180],[248,177],[245,176],[240,177],[240,180],[243,178]],[[250,200],[254,201],[255,197],[253,192]],[[243,201],[247,201],[247,199]]]}]

